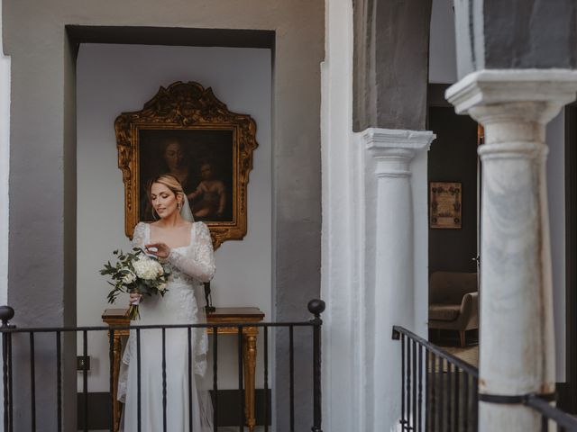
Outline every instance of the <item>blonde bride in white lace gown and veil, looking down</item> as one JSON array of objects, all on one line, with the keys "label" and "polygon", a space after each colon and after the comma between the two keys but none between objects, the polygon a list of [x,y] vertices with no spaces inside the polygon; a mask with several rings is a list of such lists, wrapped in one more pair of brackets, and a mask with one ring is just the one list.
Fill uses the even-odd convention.
[{"label": "blonde bride in white lace gown and veil, looking down", "polygon": [[[166,261],[172,273],[164,297],[141,298],[140,294],[131,294],[131,302],[140,302],[141,321],[137,324],[206,322],[203,283],[215,274],[208,228],[203,222],[194,221],[182,185],[175,176],[157,176],[151,181],[148,194],[159,220],[139,222],[134,228],[133,246],[143,247],[148,254]],[[166,329],[164,347],[162,330],[141,329],[140,344],[136,330],[131,330],[118,380],[118,400],[124,401],[122,430],[212,430],[210,397],[207,391],[198,389],[206,372],[207,346],[206,329],[191,329],[190,332],[188,329]],[[162,398],[163,352],[166,405]]]}]

